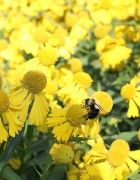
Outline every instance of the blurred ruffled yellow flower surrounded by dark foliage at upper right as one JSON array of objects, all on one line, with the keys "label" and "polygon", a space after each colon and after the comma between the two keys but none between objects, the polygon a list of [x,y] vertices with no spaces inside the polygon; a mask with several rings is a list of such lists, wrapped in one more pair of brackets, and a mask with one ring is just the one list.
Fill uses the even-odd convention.
[{"label": "blurred ruffled yellow flower surrounded by dark foliage at upper right", "polygon": [[122,39],[105,36],[96,45],[96,51],[101,55],[100,62],[103,69],[117,69],[119,65],[126,62],[132,50],[125,46]]}]

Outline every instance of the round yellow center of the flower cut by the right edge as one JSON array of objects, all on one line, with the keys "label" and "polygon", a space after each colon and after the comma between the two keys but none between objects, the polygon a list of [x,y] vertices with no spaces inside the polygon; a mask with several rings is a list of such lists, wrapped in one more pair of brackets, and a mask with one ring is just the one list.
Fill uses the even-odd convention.
[{"label": "round yellow center of the flower cut by the right edge", "polygon": [[136,88],[131,84],[126,84],[121,89],[121,96],[125,99],[131,99],[135,96]]}]

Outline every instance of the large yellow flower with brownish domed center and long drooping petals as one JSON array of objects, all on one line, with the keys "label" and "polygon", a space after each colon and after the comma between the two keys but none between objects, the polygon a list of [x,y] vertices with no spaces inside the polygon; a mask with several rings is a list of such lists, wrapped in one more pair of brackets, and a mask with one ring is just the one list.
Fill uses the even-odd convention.
[{"label": "large yellow flower with brownish domed center and long drooping petals", "polygon": [[14,104],[22,105],[20,114],[24,122],[29,111],[29,124],[43,125],[48,113],[48,102],[43,90],[47,84],[46,68],[34,61],[25,63],[20,69],[18,85],[12,90]]}]

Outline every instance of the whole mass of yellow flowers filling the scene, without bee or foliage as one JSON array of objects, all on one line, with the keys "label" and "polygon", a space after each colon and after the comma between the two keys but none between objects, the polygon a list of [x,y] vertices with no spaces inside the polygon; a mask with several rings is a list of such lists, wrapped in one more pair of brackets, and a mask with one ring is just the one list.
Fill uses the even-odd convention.
[{"label": "whole mass of yellow flowers filling the scene, without bee or foliage", "polygon": [[[121,180],[137,171],[140,150],[131,151],[122,139],[106,146],[98,117],[87,119],[85,99],[95,99],[102,115],[112,110],[113,99],[107,91],[93,91],[96,79],[84,72],[75,49],[94,34],[103,72],[123,71],[129,61],[139,67],[129,44],[140,41],[140,25],[128,22],[139,20],[140,1],[0,2],[0,143],[34,125],[41,133],[51,130],[57,142],[50,155],[69,165],[69,180]],[[140,117],[140,74],[120,91],[129,103],[128,118]]]}]

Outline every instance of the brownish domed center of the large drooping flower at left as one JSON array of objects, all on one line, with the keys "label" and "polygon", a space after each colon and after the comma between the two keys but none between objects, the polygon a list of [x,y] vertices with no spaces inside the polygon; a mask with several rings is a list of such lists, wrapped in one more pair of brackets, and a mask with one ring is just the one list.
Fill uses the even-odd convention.
[{"label": "brownish domed center of the large drooping flower at left", "polygon": [[29,71],[24,75],[22,84],[30,93],[38,94],[45,88],[47,79],[39,71]]}]

